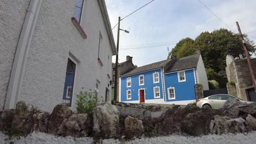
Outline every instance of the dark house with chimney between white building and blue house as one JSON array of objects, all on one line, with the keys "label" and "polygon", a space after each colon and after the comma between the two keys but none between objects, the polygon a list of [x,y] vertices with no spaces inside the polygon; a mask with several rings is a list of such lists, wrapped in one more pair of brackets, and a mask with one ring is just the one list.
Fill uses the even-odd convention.
[{"label": "dark house with chimney between white building and blue house", "polygon": [[[132,57],[126,56],[126,61],[118,63],[118,77],[135,69],[137,66],[132,63]],[[114,86],[115,86],[115,63],[112,63],[112,100],[114,100]],[[117,92],[119,93],[119,81],[117,84]],[[117,97],[119,101],[119,97]]]}]

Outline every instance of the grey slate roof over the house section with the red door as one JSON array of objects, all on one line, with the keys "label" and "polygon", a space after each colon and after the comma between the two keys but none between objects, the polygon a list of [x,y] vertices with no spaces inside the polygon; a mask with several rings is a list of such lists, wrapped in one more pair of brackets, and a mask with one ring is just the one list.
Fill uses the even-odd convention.
[{"label": "grey slate roof over the house section with the red door", "polygon": [[138,67],[136,69],[133,69],[133,70],[125,73],[124,75],[121,75],[121,76],[127,76],[127,75],[142,73],[143,71],[158,69],[158,68],[163,67],[165,65],[165,63],[167,63],[169,61],[170,60],[164,60],[164,61],[160,61],[160,62],[148,64],[148,65],[143,65],[142,67]]}]

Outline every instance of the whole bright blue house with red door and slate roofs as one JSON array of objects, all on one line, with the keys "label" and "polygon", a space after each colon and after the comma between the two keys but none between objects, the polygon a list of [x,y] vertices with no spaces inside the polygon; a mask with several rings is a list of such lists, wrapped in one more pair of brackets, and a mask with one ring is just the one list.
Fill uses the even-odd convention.
[{"label": "whole bright blue house with red door and slate roofs", "polygon": [[126,103],[189,104],[196,99],[196,83],[209,89],[200,54],[138,67],[121,75],[119,83],[119,100]]}]

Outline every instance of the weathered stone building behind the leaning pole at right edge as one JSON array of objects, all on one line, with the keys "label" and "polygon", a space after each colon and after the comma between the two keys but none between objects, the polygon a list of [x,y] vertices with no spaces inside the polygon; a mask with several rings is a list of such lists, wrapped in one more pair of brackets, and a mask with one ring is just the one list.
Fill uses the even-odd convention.
[{"label": "weathered stone building behind the leaning pole at right edge", "polygon": [[[256,76],[256,58],[252,58],[251,61]],[[235,82],[235,85],[227,85],[228,93],[243,100],[256,101],[255,96],[253,97],[254,88],[247,59],[234,59],[227,55],[226,65],[228,81]]]}]

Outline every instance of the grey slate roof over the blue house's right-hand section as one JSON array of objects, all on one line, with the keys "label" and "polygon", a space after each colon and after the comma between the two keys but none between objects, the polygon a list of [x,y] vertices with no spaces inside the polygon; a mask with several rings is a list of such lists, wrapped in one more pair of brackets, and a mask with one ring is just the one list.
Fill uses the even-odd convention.
[{"label": "grey slate roof over the blue house's right-hand section", "polygon": [[171,73],[173,71],[196,68],[197,63],[199,61],[199,57],[200,55],[191,55],[188,57],[176,59],[176,62],[165,70],[165,73]]}]

